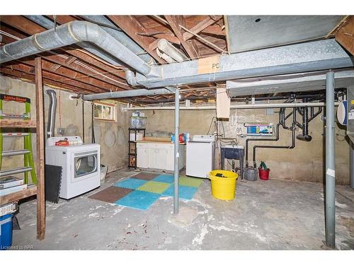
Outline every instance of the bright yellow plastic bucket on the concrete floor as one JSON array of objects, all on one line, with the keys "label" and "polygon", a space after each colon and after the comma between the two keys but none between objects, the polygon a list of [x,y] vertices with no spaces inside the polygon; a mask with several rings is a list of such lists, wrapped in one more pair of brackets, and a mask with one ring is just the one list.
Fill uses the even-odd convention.
[{"label": "bright yellow plastic bucket on the concrete floor", "polygon": [[[222,174],[224,177],[217,177]],[[236,173],[227,170],[212,170],[209,172],[209,179],[212,182],[212,196],[220,200],[233,200],[236,194],[236,180],[239,177]]]}]

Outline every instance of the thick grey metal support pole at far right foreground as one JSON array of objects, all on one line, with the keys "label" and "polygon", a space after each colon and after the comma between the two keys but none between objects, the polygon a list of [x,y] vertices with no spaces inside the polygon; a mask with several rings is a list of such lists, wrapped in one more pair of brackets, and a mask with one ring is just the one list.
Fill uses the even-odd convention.
[{"label": "thick grey metal support pole at far right foreground", "polygon": [[336,247],[334,163],[334,73],[326,73],[326,245]]}]

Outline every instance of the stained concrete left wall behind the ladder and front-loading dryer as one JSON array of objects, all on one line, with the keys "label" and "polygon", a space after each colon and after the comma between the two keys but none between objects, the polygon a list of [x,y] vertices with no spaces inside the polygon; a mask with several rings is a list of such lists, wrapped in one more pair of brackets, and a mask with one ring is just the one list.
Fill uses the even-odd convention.
[{"label": "stained concrete left wall behind the ladder and front-loading dryer", "polygon": [[[44,89],[53,89],[44,86]],[[57,93],[57,112],[55,119],[55,136],[57,128],[66,129],[67,136],[83,136],[82,129],[82,101],[69,100],[69,93],[64,90],[54,89]],[[31,117],[35,120],[35,85],[16,78],[0,76],[0,93],[19,95],[31,99]],[[49,97],[45,94],[45,131],[47,130],[47,112]],[[101,164],[108,165],[108,172],[127,166],[127,141],[130,113],[121,112],[120,104],[115,105],[116,122],[99,121],[95,119],[94,132],[96,143],[101,145]],[[4,102],[4,111],[23,113],[25,106],[16,102]],[[91,102],[84,102],[85,130],[84,141],[91,143]],[[34,131],[35,132],[35,131]],[[33,152],[36,159],[36,139],[33,134]],[[23,139],[4,139],[4,150],[23,148]],[[23,166],[23,156],[3,158],[3,169]]]}]

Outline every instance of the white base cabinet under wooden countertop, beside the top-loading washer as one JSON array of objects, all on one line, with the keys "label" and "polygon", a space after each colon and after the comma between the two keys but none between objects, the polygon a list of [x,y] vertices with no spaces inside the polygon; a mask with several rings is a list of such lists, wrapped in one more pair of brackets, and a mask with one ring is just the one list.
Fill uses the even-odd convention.
[{"label": "white base cabinet under wooden countertop, beside the top-loading washer", "polygon": [[[181,170],[185,166],[185,146],[179,147],[179,168]],[[137,167],[173,171],[174,145],[172,143],[137,143]]]}]

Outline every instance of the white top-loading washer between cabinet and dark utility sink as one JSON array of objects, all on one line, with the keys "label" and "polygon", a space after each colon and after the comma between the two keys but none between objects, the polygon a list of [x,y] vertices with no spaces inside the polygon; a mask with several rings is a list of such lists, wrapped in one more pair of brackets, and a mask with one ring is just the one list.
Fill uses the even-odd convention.
[{"label": "white top-loading washer between cabinet and dark utility sink", "polygon": [[207,178],[214,169],[215,137],[212,135],[194,135],[187,143],[185,175]]}]

